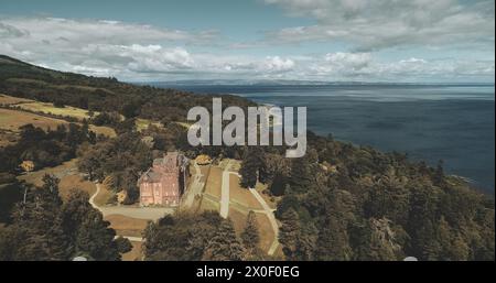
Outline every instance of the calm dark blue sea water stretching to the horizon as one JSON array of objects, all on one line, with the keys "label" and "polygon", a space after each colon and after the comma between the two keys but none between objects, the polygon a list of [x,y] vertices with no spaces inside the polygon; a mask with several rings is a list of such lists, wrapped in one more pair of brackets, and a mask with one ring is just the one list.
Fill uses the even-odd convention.
[{"label": "calm dark blue sea water stretching to the horizon", "polygon": [[335,139],[406,152],[494,194],[494,85],[174,86],[306,106],[308,127]]}]

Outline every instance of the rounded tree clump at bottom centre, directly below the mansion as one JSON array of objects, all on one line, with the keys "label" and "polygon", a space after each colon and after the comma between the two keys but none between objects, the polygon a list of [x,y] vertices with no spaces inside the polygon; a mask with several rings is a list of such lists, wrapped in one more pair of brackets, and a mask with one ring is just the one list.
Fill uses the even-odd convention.
[{"label": "rounded tree clump at bottom centre, directly below the mansion", "polygon": [[165,216],[144,230],[145,260],[256,260],[263,259],[258,249],[255,215],[249,217],[238,239],[229,219],[215,211],[200,215],[180,213]]}]

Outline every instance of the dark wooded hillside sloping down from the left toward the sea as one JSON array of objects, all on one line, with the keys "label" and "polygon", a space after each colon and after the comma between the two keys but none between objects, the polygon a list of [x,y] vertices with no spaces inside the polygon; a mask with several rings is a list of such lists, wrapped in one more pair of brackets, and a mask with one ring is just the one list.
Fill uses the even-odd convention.
[{"label": "dark wooded hillside sloping down from the left toward the sea", "polygon": [[[57,102],[90,111],[117,111],[154,121],[185,121],[191,107],[212,107],[208,96],[120,83],[116,78],[90,77],[52,70],[0,55],[0,92]],[[252,102],[222,96],[224,106]]]}]

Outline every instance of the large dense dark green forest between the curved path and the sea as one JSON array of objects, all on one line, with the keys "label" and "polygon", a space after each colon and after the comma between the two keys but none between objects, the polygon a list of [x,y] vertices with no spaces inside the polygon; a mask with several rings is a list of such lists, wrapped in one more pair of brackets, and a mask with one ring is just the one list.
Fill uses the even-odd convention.
[{"label": "large dense dark green forest between the curved path and the sea", "polygon": [[325,167],[293,160],[284,176],[290,189],[276,216],[287,259],[494,260],[494,200],[446,176],[442,163],[312,134],[309,144]]}]

